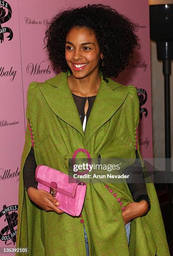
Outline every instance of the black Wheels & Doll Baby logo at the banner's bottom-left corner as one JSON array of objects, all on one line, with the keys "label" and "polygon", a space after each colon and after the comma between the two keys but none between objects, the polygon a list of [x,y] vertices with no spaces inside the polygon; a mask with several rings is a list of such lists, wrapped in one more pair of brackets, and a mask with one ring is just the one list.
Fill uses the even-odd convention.
[{"label": "black Wheels & Doll Baby logo at the banner's bottom-left corner", "polygon": [[0,240],[5,245],[16,243],[16,234],[18,225],[18,205],[3,205],[3,209],[0,211],[0,223],[3,227],[0,227]]}]

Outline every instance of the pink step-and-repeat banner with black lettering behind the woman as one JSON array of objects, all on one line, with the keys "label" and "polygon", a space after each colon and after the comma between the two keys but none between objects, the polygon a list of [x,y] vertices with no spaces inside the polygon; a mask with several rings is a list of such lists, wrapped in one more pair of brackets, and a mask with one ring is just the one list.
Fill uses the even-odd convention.
[{"label": "pink step-and-repeat banner with black lettering behind the woman", "polygon": [[140,151],[145,158],[153,157],[148,0],[140,0],[140,3],[138,0],[0,0],[1,248],[13,248],[16,244],[18,183],[27,125],[25,111],[28,85],[55,76],[44,49],[45,29],[58,11],[88,3],[110,5],[138,26],[141,49],[135,50],[135,58],[116,80],[138,88]]}]

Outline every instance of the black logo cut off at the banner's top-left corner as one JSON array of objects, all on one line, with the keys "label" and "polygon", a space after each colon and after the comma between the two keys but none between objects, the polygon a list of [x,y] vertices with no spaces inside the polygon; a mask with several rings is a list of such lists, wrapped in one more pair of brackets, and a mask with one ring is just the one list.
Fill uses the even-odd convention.
[{"label": "black logo cut off at the banner's top-left corner", "polygon": [[12,10],[10,5],[5,2],[0,0],[0,42],[1,44],[4,41],[4,36],[5,33],[8,33],[8,36],[6,36],[8,39],[8,41],[10,41],[13,38],[13,31],[11,30],[11,28],[9,27],[2,27],[3,23],[8,22],[8,20],[10,20],[12,15]]}]

